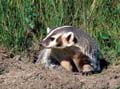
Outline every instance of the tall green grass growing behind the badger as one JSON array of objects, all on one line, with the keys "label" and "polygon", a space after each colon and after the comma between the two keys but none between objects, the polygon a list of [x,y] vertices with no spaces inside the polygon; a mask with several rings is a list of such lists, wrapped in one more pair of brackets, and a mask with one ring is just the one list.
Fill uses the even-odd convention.
[{"label": "tall green grass growing behind the badger", "polygon": [[21,53],[42,39],[47,27],[84,28],[115,63],[120,56],[120,0],[1,0],[0,44]]}]

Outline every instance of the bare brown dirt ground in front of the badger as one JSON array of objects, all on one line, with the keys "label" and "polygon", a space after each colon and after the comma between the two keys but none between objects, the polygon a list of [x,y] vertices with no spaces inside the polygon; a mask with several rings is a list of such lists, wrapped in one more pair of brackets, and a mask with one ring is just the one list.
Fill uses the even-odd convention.
[{"label": "bare brown dirt ground in front of the badger", "polygon": [[11,58],[0,49],[0,89],[120,89],[120,64],[83,76],[45,69],[40,63],[19,60],[18,55]]}]

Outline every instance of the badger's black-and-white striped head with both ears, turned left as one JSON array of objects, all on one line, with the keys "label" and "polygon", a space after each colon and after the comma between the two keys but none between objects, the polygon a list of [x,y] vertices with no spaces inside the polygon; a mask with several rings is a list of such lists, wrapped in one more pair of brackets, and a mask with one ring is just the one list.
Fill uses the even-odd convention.
[{"label": "badger's black-and-white striped head with both ears, turned left", "polygon": [[[66,29],[67,28],[67,29]],[[77,43],[75,34],[68,27],[58,27],[47,29],[47,36],[40,42],[45,48],[66,48]]]}]

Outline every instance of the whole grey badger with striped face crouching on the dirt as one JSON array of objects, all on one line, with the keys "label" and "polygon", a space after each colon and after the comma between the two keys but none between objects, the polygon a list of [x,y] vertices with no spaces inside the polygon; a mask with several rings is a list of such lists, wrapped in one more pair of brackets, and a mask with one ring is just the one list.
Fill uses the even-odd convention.
[{"label": "whole grey badger with striped face crouching on the dirt", "polygon": [[44,49],[39,59],[47,66],[56,60],[67,71],[75,68],[82,73],[100,71],[99,47],[82,29],[73,26],[47,28],[47,36],[40,42]]}]

